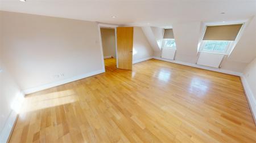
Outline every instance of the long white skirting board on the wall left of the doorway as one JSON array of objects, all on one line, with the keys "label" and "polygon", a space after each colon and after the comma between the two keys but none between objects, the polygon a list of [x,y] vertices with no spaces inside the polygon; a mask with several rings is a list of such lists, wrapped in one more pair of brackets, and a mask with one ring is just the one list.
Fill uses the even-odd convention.
[{"label": "long white skirting board on the wall left of the doorway", "polygon": [[44,84],[44,85],[36,86],[34,88],[25,89],[25,90],[23,90],[23,93],[26,95],[26,94],[30,94],[30,93],[34,93],[34,92],[39,92],[40,90],[44,90],[44,89],[52,88],[52,87],[55,87],[55,86],[71,83],[72,81],[84,79],[85,77],[89,77],[89,76],[98,75],[98,74],[103,73],[103,72],[105,72],[105,69],[94,71],[94,72],[85,73],[83,75],[71,77],[69,79],[64,79],[64,80],[56,81],[56,82],[49,83],[49,84]]}]

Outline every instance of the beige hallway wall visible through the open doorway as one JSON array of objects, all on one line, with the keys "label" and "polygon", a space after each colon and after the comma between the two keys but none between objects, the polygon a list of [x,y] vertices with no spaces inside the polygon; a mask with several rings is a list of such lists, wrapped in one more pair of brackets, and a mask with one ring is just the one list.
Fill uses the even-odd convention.
[{"label": "beige hallway wall visible through the open doorway", "polygon": [[101,28],[101,41],[104,57],[115,56],[115,29]]}]

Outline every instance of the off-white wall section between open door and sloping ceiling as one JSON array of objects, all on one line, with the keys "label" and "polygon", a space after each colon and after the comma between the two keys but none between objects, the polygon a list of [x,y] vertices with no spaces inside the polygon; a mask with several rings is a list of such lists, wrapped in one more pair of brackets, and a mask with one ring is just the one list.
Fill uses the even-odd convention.
[{"label": "off-white wall section between open door and sloping ceiling", "polygon": [[152,47],[147,41],[141,27],[134,27],[133,37],[133,63],[137,60],[150,58],[153,54]]}]

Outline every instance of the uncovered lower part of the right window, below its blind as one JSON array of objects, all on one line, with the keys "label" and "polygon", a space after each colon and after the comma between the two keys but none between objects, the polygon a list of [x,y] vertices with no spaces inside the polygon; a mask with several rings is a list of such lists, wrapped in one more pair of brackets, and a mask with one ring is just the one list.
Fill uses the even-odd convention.
[{"label": "uncovered lower part of the right window, below its blind", "polygon": [[214,54],[227,54],[228,47],[232,41],[203,40],[201,52]]}]

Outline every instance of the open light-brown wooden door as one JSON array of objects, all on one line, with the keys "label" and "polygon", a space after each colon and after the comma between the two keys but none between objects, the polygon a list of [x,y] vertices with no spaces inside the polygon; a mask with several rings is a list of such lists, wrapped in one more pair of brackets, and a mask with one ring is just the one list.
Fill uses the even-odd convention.
[{"label": "open light-brown wooden door", "polygon": [[118,68],[133,68],[133,27],[117,27]]}]

